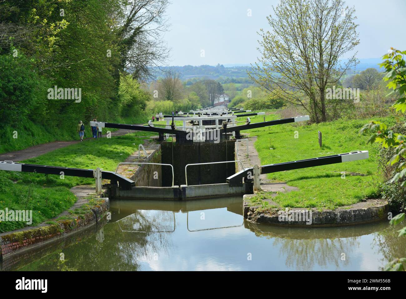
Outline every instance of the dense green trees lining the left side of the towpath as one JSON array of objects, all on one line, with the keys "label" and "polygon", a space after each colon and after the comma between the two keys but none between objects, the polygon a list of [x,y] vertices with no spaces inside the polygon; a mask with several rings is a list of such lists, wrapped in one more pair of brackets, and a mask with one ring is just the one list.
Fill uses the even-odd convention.
[{"label": "dense green trees lining the left side of the towpath", "polygon": [[79,120],[147,120],[140,82],[165,63],[167,5],[0,1],[0,152],[76,138]]}]

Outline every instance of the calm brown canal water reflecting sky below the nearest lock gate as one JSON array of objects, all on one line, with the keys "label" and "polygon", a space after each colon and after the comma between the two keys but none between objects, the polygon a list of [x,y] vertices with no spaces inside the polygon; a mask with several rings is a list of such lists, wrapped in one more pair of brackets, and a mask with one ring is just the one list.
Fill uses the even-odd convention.
[{"label": "calm brown canal water reflecting sky below the nearest lock gate", "polygon": [[242,197],[111,201],[112,219],[3,270],[382,270],[406,256],[388,221],[326,228],[255,225]]}]

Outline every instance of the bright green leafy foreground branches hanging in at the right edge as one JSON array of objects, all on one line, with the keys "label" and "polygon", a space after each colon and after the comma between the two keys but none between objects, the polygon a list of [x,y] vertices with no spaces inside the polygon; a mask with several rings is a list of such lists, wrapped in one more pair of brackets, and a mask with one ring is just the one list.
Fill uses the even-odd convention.
[{"label": "bright green leafy foreground branches hanging in at the right edge", "polygon": [[[398,93],[400,98],[393,104],[396,111],[406,111],[406,62],[404,60],[404,55],[406,51],[401,52],[391,48],[389,54],[384,55],[383,59],[385,61],[381,63],[381,67],[385,68],[384,80],[389,81],[387,87],[392,89],[389,93]],[[395,148],[395,155],[389,160],[388,164],[397,164],[397,172],[391,179],[391,183],[397,181],[402,181],[401,186],[406,184],[405,174],[406,174],[406,135],[394,133],[388,129],[387,125],[378,122],[371,121],[361,129],[360,133],[365,131],[372,131],[374,134],[369,138],[368,142],[374,143],[378,142],[384,148]],[[390,223],[393,225],[399,224],[404,220],[405,213],[398,214],[395,216]],[[406,235],[406,227],[400,229],[399,236]],[[406,258],[400,258],[390,262],[385,270],[387,271],[406,271]]]}]

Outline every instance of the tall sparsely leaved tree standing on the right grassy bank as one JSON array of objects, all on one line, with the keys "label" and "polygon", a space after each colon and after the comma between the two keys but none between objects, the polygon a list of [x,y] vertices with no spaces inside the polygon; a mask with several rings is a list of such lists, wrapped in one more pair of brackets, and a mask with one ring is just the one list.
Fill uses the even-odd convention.
[{"label": "tall sparsely leaved tree standing on the right grassy bank", "polygon": [[261,59],[248,75],[285,102],[326,121],[326,87],[357,63],[341,57],[359,43],[355,9],[343,0],[281,0],[260,30]]}]

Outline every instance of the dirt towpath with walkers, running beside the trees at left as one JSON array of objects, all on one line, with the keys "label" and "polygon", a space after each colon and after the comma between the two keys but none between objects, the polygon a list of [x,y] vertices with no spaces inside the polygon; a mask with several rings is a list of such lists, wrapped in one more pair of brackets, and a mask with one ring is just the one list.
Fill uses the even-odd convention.
[{"label": "dirt towpath with walkers, running beside the trees at left", "polygon": [[[133,133],[133,132],[134,131],[132,131],[132,130],[119,129],[117,131],[112,132],[111,135],[112,136],[121,136],[121,135],[125,135],[128,133]],[[86,140],[89,140],[89,139],[91,139],[91,138],[87,138]],[[35,145],[35,146],[31,146],[29,148],[23,149],[21,151],[14,151],[14,152],[0,154],[0,161],[9,160],[9,161],[13,161],[13,162],[19,162],[19,161],[23,161],[26,159],[35,158],[35,157],[38,157],[45,153],[48,153],[50,151],[54,151],[58,148],[62,148],[62,147],[69,146],[71,144],[76,144],[79,142],[80,142],[79,140],[74,140],[74,141],[54,141],[54,142],[39,144],[39,145]]]}]

